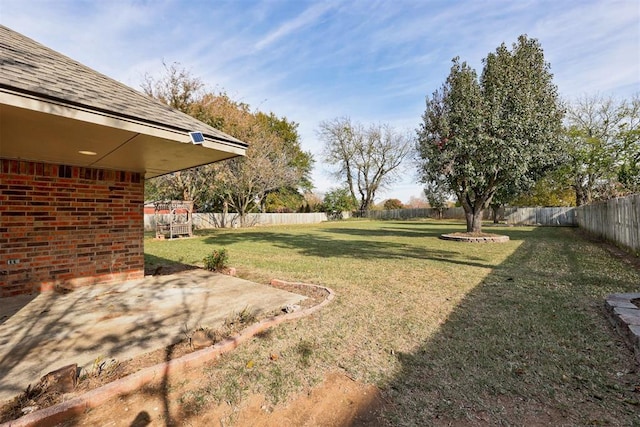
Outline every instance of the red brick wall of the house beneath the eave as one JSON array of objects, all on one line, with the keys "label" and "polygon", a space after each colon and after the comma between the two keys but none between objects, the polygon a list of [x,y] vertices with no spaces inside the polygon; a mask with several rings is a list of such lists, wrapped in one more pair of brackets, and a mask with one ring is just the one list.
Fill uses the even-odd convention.
[{"label": "red brick wall of the house beneath the eave", "polygon": [[144,180],[0,159],[0,297],[144,275]]}]

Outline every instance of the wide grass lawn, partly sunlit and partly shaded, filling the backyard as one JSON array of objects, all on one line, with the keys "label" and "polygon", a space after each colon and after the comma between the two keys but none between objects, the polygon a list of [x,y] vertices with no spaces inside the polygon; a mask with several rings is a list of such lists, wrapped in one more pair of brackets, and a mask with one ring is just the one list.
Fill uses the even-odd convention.
[{"label": "wide grass lawn, partly sunlit and partly shaded, filling the backyard", "polygon": [[[391,425],[640,425],[640,379],[604,297],[640,271],[571,228],[491,228],[511,240],[438,239],[440,221],[343,221],[145,240],[146,262],[202,265],[226,248],[240,277],[322,284],[337,299],[204,370],[185,410],[273,404],[329,372],[377,384]],[[272,360],[277,354],[277,360]]]}]

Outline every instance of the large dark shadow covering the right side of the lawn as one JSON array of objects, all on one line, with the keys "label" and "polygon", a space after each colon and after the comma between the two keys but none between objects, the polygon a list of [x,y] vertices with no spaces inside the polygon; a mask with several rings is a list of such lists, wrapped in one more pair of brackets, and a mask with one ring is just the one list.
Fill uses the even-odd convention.
[{"label": "large dark shadow covering the right side of the lawn", "polygon": [[634,425],[633,355],[603,300],[640,274],[571,229],[529,232],[384,387],[391,425]]}]

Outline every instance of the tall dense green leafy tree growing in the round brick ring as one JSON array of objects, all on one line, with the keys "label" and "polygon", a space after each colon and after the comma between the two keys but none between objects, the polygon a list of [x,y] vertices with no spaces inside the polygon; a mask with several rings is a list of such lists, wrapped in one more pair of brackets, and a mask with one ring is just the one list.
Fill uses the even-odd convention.
[{"label": "tall dense green leafy tree growing in the round brick ring", "polygon": [[455,194],[468,232],[480,232],[496,192],[518,189],[559,161],[563,110],[539,43],[527,36],[484,60],[480,78],[454,58],[443,86],[427,98],[418,129],[419,172]]}]

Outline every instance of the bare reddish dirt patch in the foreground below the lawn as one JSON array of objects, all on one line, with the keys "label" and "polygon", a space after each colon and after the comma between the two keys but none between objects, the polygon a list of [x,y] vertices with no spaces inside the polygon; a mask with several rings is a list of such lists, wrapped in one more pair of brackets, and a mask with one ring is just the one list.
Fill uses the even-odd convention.
[{"label": "bare reddish dirt patch in the foreground below the lawn", "polygon": [[[273,407],[264,396],[253,394],[235,407],[223,403],[200,410],[194,401],[192,406],[180,408],[178,403],[184,401],[183,397],[196,388],[200,380],[198,370],[192,370],[170,383],[168,395],[165,395],[167,387],[163,384],[148,385],[140,392],[115,398],[61,426],[382,425],[376,418],[382,405],[380,391],[338,372],[326,375],[324,381],[310,391],[291,396],[285,405]],[[165,409],[167,402],[168,410]],[[117,417],[114,416],[116,413]]]}]

